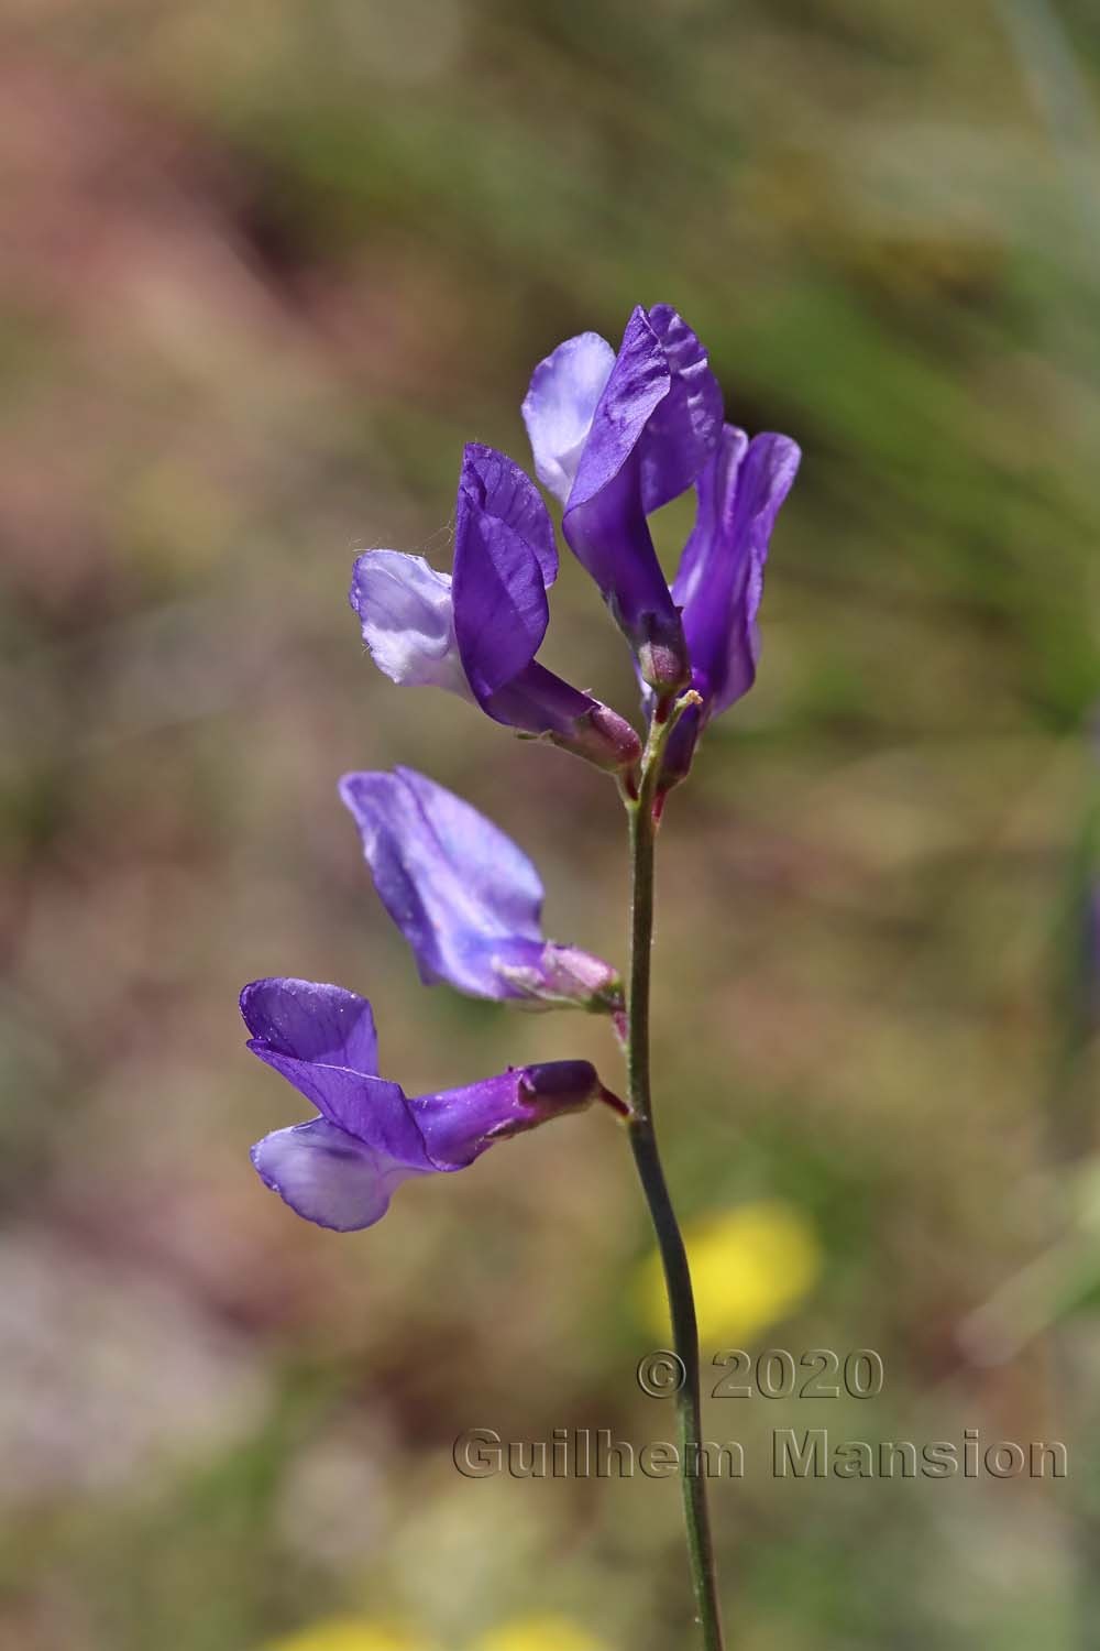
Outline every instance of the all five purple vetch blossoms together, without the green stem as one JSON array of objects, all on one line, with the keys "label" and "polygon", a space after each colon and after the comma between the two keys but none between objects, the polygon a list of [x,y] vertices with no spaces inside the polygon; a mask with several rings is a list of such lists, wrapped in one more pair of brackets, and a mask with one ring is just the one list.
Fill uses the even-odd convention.
[{"label": "all five purple vetch blossoms together, without the green stem", "polygon": [[[775,434],[750,441],[722,421],[707,355],[665,304],[637,309],[617,352],[597,334],[559,345],[534,370],[523,419],[534,471],[562,509],[564,538],[633,650],[650,726],[679,698],[661,759],[665,792],[686,776],[709,718],[755,679],[764,565],[798,447]],[[648,518],[691,487],[696,522],[670,586]],[[452,571],[368,550],[355,563],[350,601],[393,682],[447,688],[516,733],[612,773],[630,792],[642,758],[635,728],[536,659],[556,576],[554,525],[538,487],[503,452],[470,442]],[[618,976],[544,938],[539,877],[496,826],[407,768],[346,774],[340,796],[425,982],[576,1005],[622,1025]],[[254,1164],[323,1227],[368,1227],[399,1182],[462,1169],[493,1141],[592,1100],[622,1109],[576,1060],[409,1098],[378,1076],[369,1004],[336,986],[256,981],[241,1010],[249,1048],[318,1113],[266,1136]]]}]

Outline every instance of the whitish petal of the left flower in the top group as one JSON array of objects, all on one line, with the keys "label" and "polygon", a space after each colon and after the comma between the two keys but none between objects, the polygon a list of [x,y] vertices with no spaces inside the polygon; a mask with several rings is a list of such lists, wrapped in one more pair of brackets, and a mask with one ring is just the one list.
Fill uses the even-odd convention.
[{"label": "whitish petal of the left flower in the top group", "polygon": [[366,550],[356,558],[348,601],[371,659],[391,682],[473,698],[458,657],[450,575],[424,556]]}]

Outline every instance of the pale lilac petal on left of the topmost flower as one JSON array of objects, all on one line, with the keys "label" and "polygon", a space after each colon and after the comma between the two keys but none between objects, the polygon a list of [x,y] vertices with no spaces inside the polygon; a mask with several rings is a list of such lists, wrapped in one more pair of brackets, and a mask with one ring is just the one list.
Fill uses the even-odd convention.
[{"label": "pale lilac petal on left of the topmost flower", "polygon": [[566,504],[577,475],[592,416],[612,375],[615,352],[597,332],[566,338],[534,368],[523,403],[534,471]]}]

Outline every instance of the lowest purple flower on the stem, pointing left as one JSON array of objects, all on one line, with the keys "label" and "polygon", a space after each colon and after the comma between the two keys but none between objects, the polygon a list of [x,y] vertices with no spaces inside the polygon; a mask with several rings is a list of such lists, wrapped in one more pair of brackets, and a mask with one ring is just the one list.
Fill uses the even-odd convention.
[{"label": "lowest purple flower on the stem, pointing left", "polygon": [[378,1076],[364,997],[313,981],[241,992],[249,1048],[320,1113],[252,1147],[266,1185],[307,1222],[353,1232],[379,1220],[411,1176],[465,1169],[493,1141],[609,1096],[585,1060],[518,1067],[460,1090],[407,1096]]}]

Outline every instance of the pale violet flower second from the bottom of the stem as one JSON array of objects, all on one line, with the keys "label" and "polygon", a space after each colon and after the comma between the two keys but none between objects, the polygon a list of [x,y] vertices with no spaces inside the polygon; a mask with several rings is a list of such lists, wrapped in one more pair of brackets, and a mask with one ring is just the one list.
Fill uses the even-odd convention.
[{"label": "pale violet flower second from the bottom of the stem", "polygon": [[345,774],[378,893],[412,946],[425,984],[475,997],[622,1009],[622,982],[599,958],[543,938],[543,883],[510,837],[411,768]]}]

